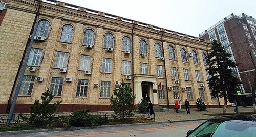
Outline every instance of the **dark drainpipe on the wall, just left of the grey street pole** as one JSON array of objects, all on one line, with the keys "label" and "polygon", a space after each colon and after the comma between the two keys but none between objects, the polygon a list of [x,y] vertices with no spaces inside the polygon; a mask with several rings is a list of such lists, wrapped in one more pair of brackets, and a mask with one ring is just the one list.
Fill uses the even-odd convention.
[{"label": "dark drainpipe on the wall, just left of the grey street pole", "polygon": [[[36,4],[35,4],[35,5],[36,5]],[[34,30],[34,29],[33,29],[33,26],[35,25],[36,19],[37,19],[37,17],[39,16],[39,8],[40,8],[40,1],[39,1],[39,3],[38,3],[38,12],[36,12],[36,15],[35,15],[35,18],[34,18],[34,22],[33,22],[32,28],[31,28],[31,30],[30,30],[29,36],[32,35],[32,33],[33,33],[33,30]],[[37,9],[37,7],[36,7],[36,9]],[[19,67],[18,67],[18,70],[17,70],[16,77],[15,77],[15,79],[14,79],[14,83],[13,83],[12,90],[11,90],[11,93],[10,93],[10,96],[9,96],[9,99],[8,99],[8,104],[7,104],[7,108],[6,108],[6,112],[5,112],[5,113],[9,113],[9,112],[10,112],[12,95],[13,95],[13,92],[14,92],[14,89],[15,89],[15,85],[16,85],[16,83],[17,83],[17,79],[18,79],[18,76],[19,76],[19,72],[20,72],[20,70],[21,70],[21,68],[22,68],[22,63],[23,63],[23,60],[24,60],[24,58],[25,58],[26,51],[27,51],[28,46],[29,46],[29,41],[30,41],[30,40],[29,40],[29,38],[28,38],[27,43],[26,43],[26,47],[25,47],[24,52],[23,52],[23,55],[22,55],[22,59],[20,60],[20,63],[19,63]]]}]

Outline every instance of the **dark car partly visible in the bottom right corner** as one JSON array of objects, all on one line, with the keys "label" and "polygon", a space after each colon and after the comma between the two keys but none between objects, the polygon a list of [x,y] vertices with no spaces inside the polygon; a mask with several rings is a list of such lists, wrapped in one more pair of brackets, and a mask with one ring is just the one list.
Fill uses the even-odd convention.
[{"label": "dark car partly visible in the bottom right corner", "polygon": [[209,119],[187,137],[256,137],[256,115],[226,115]]}]

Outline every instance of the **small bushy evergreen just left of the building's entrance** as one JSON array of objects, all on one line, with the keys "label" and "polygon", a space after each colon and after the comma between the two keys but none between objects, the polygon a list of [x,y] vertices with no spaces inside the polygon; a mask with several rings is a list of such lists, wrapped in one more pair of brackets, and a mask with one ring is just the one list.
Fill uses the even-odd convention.
[{"label": "small bushy evergreen just left of the building's entrance", "polygon": [[114,90],[114,95],[111,94],[110,102],[115,113],[115,116],[119,116],[121,119],[130,117],[134,107],[135,96],[132,95],[133,89],[122,81],[121,85],[118,85],[119,90]]}]

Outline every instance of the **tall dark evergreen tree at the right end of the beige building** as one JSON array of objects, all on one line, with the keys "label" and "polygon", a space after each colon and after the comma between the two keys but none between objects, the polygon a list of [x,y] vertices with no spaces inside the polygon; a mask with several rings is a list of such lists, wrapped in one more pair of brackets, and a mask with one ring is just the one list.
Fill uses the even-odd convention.
[{"label": "tall dark evergreen tree at the right end of the beige building", "polygon": [[240,84],[239,79],[232,75],[232,68],[238,64],[234,63],[230,57],[231,54],[224,50],[221,43],[216,40],[212,42],[212,52],[209,53],[208,61],[209,74],[212,76],[208,79],[211,95],[224,98],[223,114],[226,114],[227,100],[234,100],[237,86]]}]

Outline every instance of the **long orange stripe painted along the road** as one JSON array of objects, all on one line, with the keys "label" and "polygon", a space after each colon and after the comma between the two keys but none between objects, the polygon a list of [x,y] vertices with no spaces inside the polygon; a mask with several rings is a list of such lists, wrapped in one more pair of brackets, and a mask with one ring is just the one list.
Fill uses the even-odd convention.
[{"label": "long orange stripe painted along the road", "polygon": [[82,134],[69,134],[69,135],[57,135],[52,137],[71,137],[71,136],[97,136],[97,135],[110,135],[110,134],[123,134],[130,132],[148,132],[156,130],[168,130],[175,128],[184,128],[184,127],[195,127],[199,124],[190,124],[190,125],[178,125],[178,126],[168,126],[168,127],[156,127],[156,128],[146,128],[146,129],[135,129],[135,130],[123,130],[123,131],[110,131],[110,132],[93,132],[93,133],[82,133]]}]

